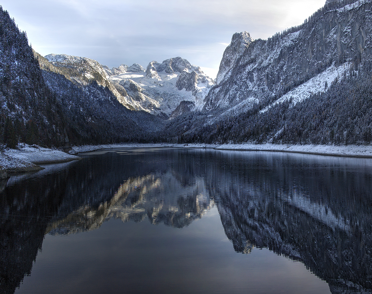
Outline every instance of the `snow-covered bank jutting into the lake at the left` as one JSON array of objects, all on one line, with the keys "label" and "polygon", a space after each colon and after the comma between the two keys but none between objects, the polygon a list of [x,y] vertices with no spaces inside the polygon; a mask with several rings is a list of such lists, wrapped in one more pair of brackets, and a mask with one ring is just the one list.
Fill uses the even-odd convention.
[{"label": "snow-covered bank jutting into the lake at the left", "polygon": [[[80,157],[36,145],[19,144],[18,149],[6,148],[0,152],[0,170],[5,170],[6,175],[34,172],[42,169],[37,164],[68,162],[76,159]],[[6,175],[4,174],[3,178]]]}]

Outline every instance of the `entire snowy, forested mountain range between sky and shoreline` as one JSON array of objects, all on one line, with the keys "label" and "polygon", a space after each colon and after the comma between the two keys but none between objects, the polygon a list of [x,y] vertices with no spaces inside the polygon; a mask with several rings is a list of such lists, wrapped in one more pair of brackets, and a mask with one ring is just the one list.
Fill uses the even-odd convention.
[{"label": "entire snowy, forested mountain range between sky and shoreline", "polygon": [[327,0],[267,40],[235,33],[215,81],[181,57],[42,57],[1,10],[0,143],[370,144],[371,5]]}]

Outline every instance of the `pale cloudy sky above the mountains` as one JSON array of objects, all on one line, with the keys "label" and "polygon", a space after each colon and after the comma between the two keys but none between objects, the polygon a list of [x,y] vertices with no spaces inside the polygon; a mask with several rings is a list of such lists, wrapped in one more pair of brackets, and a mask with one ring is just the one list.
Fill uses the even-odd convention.
[{"label": "pale cloudy sky above the mountains", "polygon": [[325,0],[2,0],[41,55],[120,64],[180,56],[215,78],[235,32],[253,39],[300,25]]}]

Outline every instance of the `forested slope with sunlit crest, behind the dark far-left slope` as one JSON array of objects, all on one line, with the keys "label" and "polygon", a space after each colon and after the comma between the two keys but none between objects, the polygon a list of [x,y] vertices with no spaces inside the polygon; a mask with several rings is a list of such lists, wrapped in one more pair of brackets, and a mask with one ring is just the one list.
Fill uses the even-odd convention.
[{"label": "forested slope with sunlit crest, behind the dark far-left slope", "polygon": [[96,61],[67,55],[49,58],[54,62],[38,56],[44,79],[70,126],[71,144],[147,141],[160,127],[160,119],[122,105]]}]

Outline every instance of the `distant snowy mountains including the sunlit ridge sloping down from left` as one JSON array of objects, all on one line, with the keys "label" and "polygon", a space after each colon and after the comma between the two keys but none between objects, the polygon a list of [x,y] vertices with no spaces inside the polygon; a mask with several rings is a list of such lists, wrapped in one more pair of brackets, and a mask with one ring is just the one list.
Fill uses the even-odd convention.
[{"label": "distant snowy mountains including the sunlit ridge sloping down from left", "polygon": [[71,68],[80,75],[74,81],[86,86],[96,80],[107,87],[126,108],[168,118],[181,101],[203,108],[203,99],[213,85],[199,67],[180,57],[152,61],[146,70],[140,64],[121,64],[111,70],[85,57],[49,54],[45,58],[57,67]]}]

